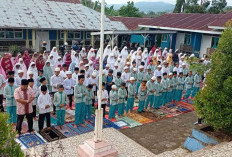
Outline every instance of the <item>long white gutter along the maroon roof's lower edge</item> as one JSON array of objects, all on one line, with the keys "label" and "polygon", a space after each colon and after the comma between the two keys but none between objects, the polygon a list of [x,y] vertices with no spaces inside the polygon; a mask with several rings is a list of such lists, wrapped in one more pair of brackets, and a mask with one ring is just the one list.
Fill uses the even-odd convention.
[{"label": "long white gutter along the maroon roof's lower edge", "polygon": [[203,31],[203,30],[182,29],[182,28],[172,28],[172,27],[159,27],[159,26],[151,26],[151,25],[139,25],[139,27],[156,28],[156,29],[173,30],[173,31],[184,31],[184,32],[196,32],[196,33],[205,33],[205,34],[217,34],[217,35],[222,34],[222,32],[215,32],[215,31]]}]

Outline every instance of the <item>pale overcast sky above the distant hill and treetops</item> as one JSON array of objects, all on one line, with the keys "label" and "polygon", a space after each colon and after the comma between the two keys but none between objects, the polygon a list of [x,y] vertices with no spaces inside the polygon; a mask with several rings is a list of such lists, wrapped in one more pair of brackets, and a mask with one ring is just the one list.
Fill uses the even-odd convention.
[{"label": "pale overcast sky above the distant hill and treetops", "polygon": [[[101,0],[100,0],[101,1]],[[128,0],[105,0],[107,4],[122,4],[126,3]],[[146,1],[146,2],[167,2],[167,3],[172,3],[175,4],[176,0],[131,0],[134,2],[139,2],[139,1]],[[227,0],[227,4],[232,6],[232,0]]]}]

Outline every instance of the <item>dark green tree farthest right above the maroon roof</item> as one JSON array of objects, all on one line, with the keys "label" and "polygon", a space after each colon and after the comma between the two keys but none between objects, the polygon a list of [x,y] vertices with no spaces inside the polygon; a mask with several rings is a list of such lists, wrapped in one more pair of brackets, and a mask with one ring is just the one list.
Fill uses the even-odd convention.
[{"label": "dark green tree farthest right above the maroon roof", "polygon": [[209,8],[209,13],[213,13],[213,14],[222,13],[226,5],[227,5],[226,0],[212,0],[211,7]]}]

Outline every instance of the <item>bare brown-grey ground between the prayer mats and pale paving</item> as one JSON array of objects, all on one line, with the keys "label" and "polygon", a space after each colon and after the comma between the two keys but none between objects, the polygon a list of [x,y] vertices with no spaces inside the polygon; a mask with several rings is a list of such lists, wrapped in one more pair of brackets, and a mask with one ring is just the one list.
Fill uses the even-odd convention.
[{"label": "bare brown-grey ground between the prayer mats and pale paving", "polygon": [[160,154],[182,146],[196,120],[196,113],[190,112],[120,131],[154,154]]}]

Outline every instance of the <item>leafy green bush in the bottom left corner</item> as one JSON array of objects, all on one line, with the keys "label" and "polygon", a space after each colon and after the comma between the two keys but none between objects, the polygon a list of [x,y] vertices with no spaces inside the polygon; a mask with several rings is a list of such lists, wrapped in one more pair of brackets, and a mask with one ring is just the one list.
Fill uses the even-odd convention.
[{"label": "leafy green bush in the bottom left corner", "polygon": [[7,120],[8,115],[0,113],[0,156],[23,157],[19,144],[14,140],[16,133]]}]

